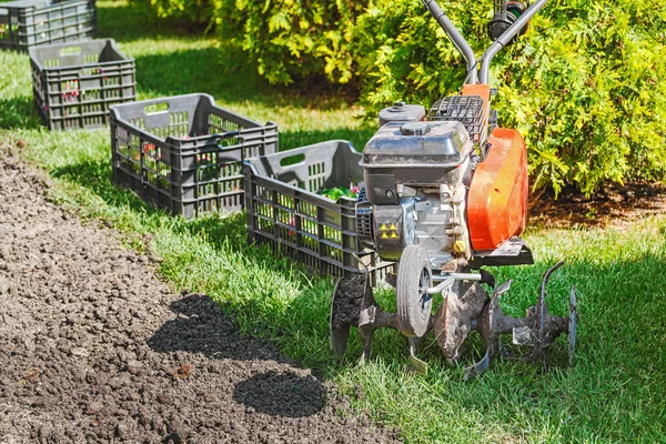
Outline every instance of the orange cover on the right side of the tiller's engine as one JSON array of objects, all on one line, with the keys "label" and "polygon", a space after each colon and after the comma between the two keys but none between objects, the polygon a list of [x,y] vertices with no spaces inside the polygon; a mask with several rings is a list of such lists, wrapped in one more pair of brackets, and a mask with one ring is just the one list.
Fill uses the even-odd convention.
[{"label": "orange cover on the right side of the tiller's engine", "polygon": [[467,223],[474,251],[495,250],[525,230],[527,152],[516,130],[496,128],[487,158],[478,163],[467,199]]}]

